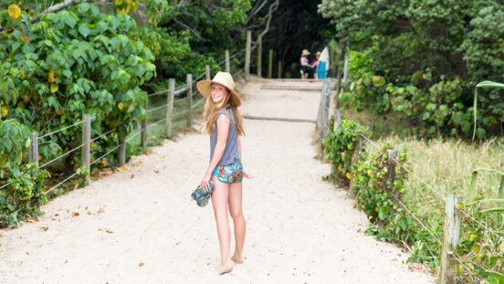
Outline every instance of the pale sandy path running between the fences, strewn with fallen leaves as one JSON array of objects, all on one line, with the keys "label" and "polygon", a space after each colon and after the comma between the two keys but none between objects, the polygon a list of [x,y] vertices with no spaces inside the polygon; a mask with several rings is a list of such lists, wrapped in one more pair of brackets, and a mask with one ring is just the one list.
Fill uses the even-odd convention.
[{"label": "pale sandy path running between the fences, strewn with fallen leaves", "polygon": [[[315,119],[320,93],[262,84],[279,83],[241,89],[242,113]],[[52,200],[37,224],[0,230],[0,283],[434,283],[408,271],[400,248],[365,236],[366,217],[321,181],[330,165],[313,159],[313,128],[246,121],[244,166],[256,178],[244,183],[246,262],[231,274],[216,276],[211,205],[190,199],[209,152],[208,138],[191,134]]]}]

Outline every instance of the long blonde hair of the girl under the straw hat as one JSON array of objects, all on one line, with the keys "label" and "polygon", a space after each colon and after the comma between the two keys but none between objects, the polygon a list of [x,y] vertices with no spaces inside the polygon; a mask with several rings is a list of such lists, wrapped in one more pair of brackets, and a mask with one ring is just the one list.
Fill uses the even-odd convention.
[{"label": "long blonde hair of the girl under the straw hat", "polygon": [[226,96],[224,100],[221,100],[216,104],[214,100],[212,100],[212,95],[209,94],[208,97],[206,97],[205,111],[203,111],[202,119],[206,122],[205,133],[207,133],[208,135],[211,135],[212,131],[215,128],[215,116],[217,115],[217,112],[222,108],[226,108],[226,110],[230,109],[231,111],[233,111],[236,133],[238,133],[238,136],[245,136],[242,116],[238,111],[237,106],[234,104],[234,100],[229,100],[231,96],[231,92],[226,88]]}]

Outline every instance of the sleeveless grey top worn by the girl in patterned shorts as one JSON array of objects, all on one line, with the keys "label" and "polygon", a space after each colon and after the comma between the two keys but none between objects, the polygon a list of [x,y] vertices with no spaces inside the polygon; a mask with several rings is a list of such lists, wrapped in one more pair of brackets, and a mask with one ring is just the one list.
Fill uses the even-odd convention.
[{"label": "sleeveless grey top worn by the girl in patterned shorts", "polygon": [[224,150],[222,158],[217,165],[241,163],[240,154],[238,153],[238,135],[236,132],[235,116],[233,115],[233,110],[226,110],[226,108],[220,109],[217,115],[215,115],[215,127],[210,135],[210,161],[212,161],[212,157],[214,156],[215,145],[217,143],[217,120],[221,114],[226,115],[229,120],[229,132],[227,133],[226,150]]}]

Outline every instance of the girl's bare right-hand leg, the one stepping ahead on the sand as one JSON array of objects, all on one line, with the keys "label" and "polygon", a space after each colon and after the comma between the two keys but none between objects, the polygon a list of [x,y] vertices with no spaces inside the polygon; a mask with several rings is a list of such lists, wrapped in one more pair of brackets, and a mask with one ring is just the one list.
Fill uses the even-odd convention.
[{"label": "girl's bare right-hand leg, the one stepping ahead on the sand", "polygon": [[229,212],[235,225],[235,254],[231,259],[243,263],[243,244],[245,242],[245,218],[242,211],[242,183],[231,184],[229,189]]}]

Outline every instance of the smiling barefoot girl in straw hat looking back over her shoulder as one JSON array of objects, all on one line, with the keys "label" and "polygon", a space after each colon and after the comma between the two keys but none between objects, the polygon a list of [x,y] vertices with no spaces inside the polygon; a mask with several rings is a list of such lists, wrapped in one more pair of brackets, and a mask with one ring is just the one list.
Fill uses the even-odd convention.
[{"label": "smiling barefoot girl in straw hat looking back over her shoulder", "polygon": [[[218,72],[213,80],[201,80],[196,84],[199,92],[206,98],[203,121],[205,132],[210,134],[210,164],[201,180],[204,190],[210,188],[208,182],[215,184],[212,192],[215,223],[221,250],[219,274],[233,270],[233,260],[243,263],[242,251],[245,241],[245,218],[242,212],[242,179],[253,178],[243,172],[241,163],[241,143],[239,136],[243,131],[242,118],[237,107],[241,100],[235,91],[231,74]],[[202,124],[203,128],[204,124]],[[200,128],[201,129],[201,128]],[[235,225],[235,253],[230,258],[231,233],[227,220],[227,206]]]}]

